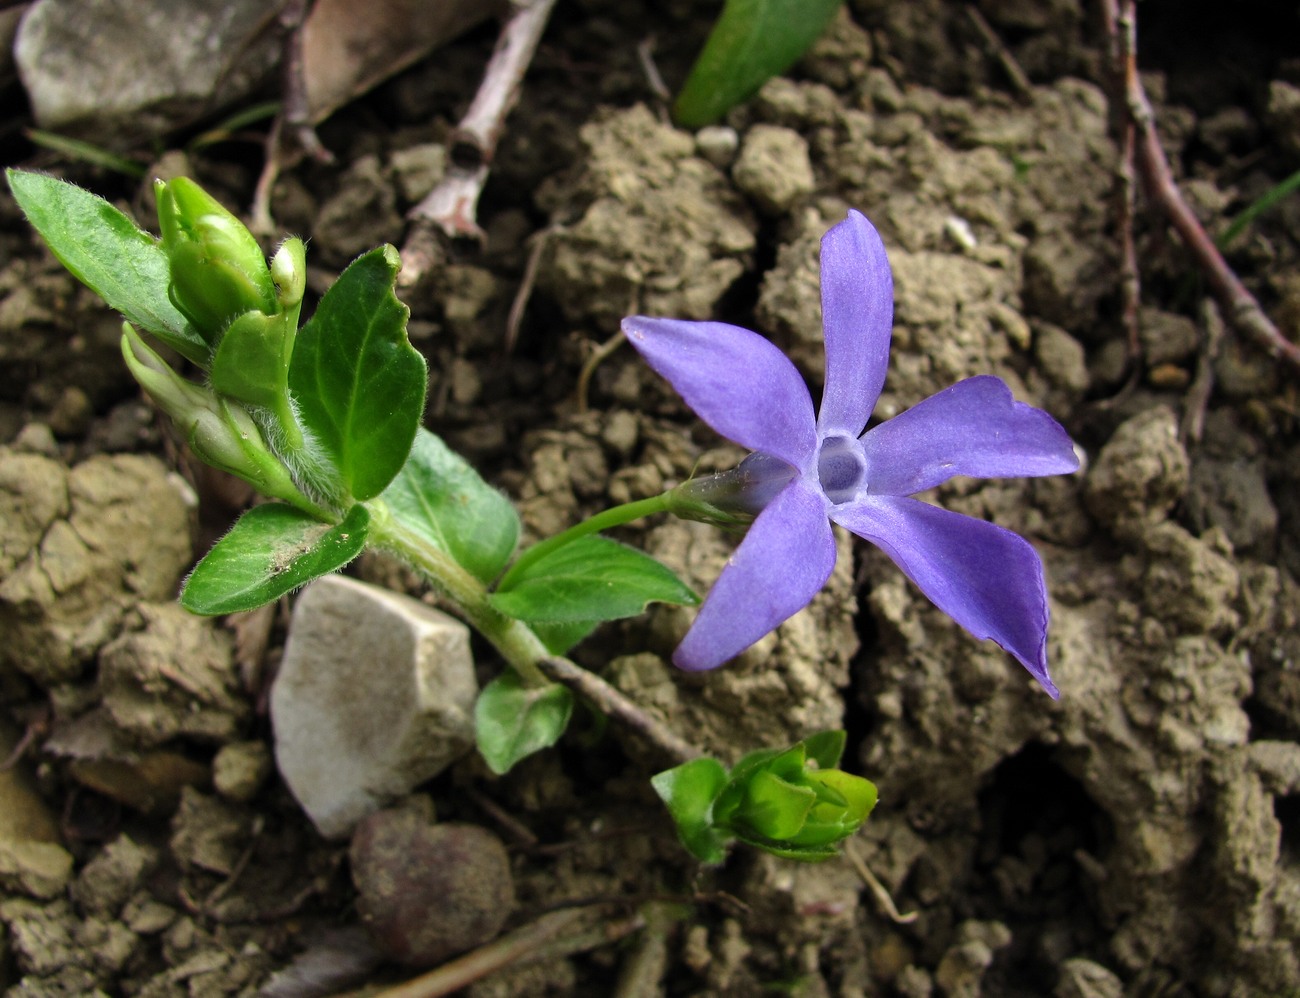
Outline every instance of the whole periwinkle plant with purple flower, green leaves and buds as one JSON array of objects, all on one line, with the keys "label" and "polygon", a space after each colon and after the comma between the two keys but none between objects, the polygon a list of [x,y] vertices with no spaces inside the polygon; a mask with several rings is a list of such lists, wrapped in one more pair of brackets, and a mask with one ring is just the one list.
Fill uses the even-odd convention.
[{"label": "whole periwinkle plant with purple flower, green leaves and buds", "polygon": [[[862,434],[888,361],[884,248],[852,213],[823,246],[827,392],[762,337],[723,324],[629,318],[633,344],[723,435],[755,451],[733,472],[627,503],[516,551],[510,502],[421,424],[426,368],[394,295],[393,247],[355,260],[300,324],[306,247],[265,259],[248,230],[187,179],[157,183],[161,240],[73,185],[8,172],[27,218],[81,281],[121,312],[124,359],[194,455],[276,500],[247,511],[181,594],[196,613],[251,609],[367,547],[420,572],[491,642],[507,669],[480,694],[480,752],[498,773],[552,745],[572,711],[543,669],[602,621],[698,598],[607,528],[670,512],[753,520],[676,660],[712,668],[806,606],[833,567],[829,524],[884,547],[941,608],[993,637],[1056,694],[1046,596],[1032,548],[1006,530],[904,496],[953,474],[1053,474],[1069,438],[972,378]],[[142,333],[202,374],[183,377]],[[737,377],[742,374],[742,377]],[[971,430],[978,420],[983,429]],[[837,768],[842,733],[764,748],[732,771],[696,759],[655,778],[682,839],[718,862],[732,839],[824,859],[866,820],[875,787]]]}]

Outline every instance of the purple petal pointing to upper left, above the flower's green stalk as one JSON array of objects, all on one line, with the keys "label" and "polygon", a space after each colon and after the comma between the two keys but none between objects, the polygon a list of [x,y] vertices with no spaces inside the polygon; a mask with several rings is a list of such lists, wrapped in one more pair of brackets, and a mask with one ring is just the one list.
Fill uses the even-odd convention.
[{"label": "purple petal pointing to upper left, above the flower's green stalk", "polygon": [[623,331],[646,363],[727,439],[805,470],[816,448],[812,396],[770,340],[727,322],[629,316]]}]

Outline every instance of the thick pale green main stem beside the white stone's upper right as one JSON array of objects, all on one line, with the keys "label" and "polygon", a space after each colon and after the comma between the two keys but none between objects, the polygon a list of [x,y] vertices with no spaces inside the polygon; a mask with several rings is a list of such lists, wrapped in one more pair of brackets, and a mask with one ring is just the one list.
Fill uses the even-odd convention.
[{"label": "thick pale green main stem beside the white stone's upper right", "polygon": [[367,505],[373,517],[373,543],[396,554],[451,600],[465,621],[493,643],[524,682],[529,686],[551,684],[537,664],[549,652],[532,628],[497,611],[488,600],[488,590],[482,582],[445,551],[395,518],[384,503],[372,500]]}]

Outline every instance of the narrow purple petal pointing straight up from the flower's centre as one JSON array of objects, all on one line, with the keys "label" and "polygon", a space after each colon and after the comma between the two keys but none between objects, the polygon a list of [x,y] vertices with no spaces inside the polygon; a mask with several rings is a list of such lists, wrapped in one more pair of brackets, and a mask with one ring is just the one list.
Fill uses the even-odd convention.
[{"label": "narrow purple petal pointing straight up from the flower's centre", "polygon": [[822,437],[857,437],[867,425],[889,368],[892,324],[893,274],[885,246],[863,214],[849,212],[822,237]]}]

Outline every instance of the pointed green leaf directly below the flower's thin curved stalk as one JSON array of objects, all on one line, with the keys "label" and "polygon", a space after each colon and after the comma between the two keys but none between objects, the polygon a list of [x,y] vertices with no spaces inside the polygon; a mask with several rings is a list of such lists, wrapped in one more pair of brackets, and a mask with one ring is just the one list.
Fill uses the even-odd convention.
[{"label": "pointed green leaf directly below the flower's thin curved stalk", "polygon": [[656,600],[690,607],[699,598],[649,555],[606,537],[555,548],[491,595],[497,609],[529,624],[620,620]]}]

